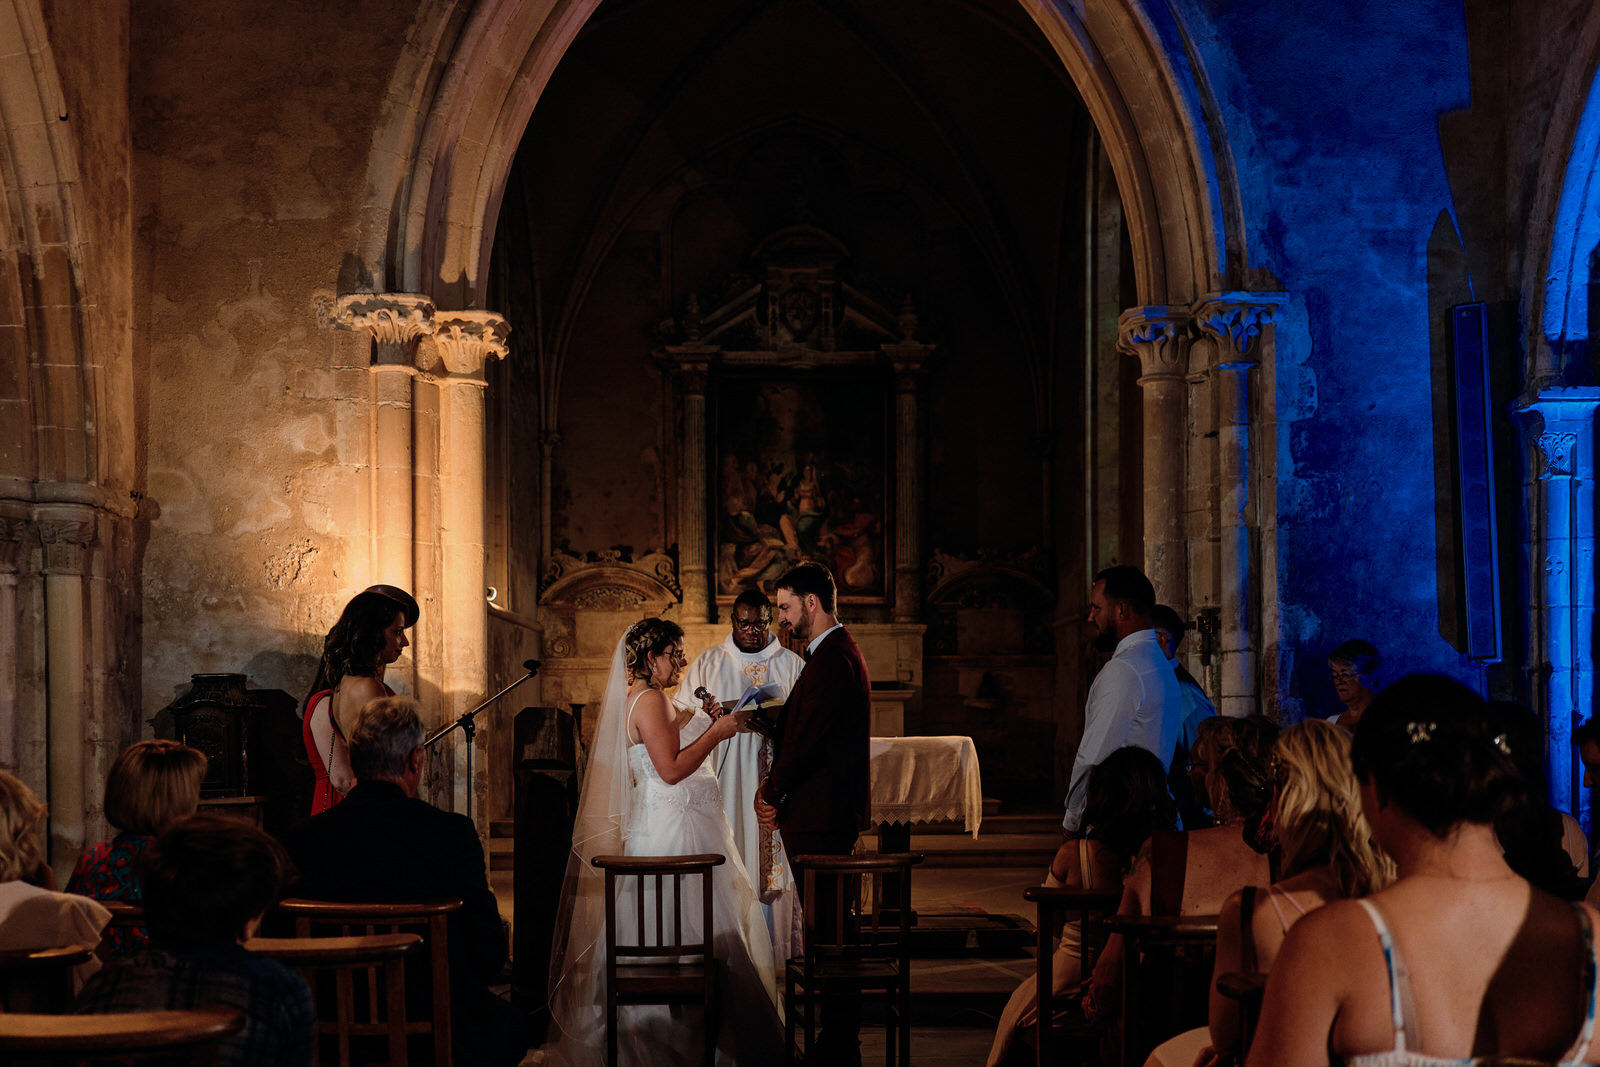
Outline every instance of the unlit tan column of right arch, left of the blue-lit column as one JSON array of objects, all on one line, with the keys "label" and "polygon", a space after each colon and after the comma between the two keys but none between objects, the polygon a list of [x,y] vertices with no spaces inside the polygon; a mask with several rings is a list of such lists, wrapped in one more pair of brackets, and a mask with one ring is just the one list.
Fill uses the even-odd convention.
[{"label": "unlit tan column of right arch, left of the blue-lit column", "polygon": [[1182,526],[1189,323],[1173,307],[1130,307],[1117,318],[1117,347],[1139,357],[1144,390],[1144,573],[1155,598],[1189,614]]}]

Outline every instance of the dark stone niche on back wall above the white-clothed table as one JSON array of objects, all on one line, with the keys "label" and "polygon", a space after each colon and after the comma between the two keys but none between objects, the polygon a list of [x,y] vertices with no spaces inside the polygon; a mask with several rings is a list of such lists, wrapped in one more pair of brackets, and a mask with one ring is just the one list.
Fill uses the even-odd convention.
[{"label": "dark stone niche on back wall above the white-clothed table", "polygon": [[928,656],[920,733],[966,734],[984,795],[1048,803],[1054,789],[1053,563],[1040,549],[928,566]]}]

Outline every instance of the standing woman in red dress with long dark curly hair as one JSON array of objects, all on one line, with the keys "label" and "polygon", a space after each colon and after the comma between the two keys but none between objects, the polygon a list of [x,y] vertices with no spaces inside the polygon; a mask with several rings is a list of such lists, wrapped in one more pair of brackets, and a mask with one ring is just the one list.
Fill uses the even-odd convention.
[{"label": "standing woman in red dress with long dark curly hair", "polygon": [[355,784],[346,739],[368,701],[394,696],[394,689],[384,685],[384,669],[400,659],[410,645],[405,632],[416,624],[418,614],[411,593],[394,585],[373,585],[357,593],[328,630],[301,728],[317,777],[312,814],[322,814],[344,800]]}]

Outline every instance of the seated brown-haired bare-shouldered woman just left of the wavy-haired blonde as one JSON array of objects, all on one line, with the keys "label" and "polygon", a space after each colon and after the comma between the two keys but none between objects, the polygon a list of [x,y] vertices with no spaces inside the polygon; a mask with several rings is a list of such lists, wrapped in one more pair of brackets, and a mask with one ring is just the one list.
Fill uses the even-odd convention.
[{"label": "seated brown-haired bare-shouldered woman just left of the wavy-haired blonde", "polygon": [[[1267,758],[1278,728],[1264,715],[1214,717],[1200,723],[1205,789],[1216,825],[1157,830],[1150,848],[1123,883],[1118,915],[1216,915],[1235,889],[1272,880],[1259,830],[1272,795]],[[1085,1011],[1115,1011],[1122,985],[1122,936],[1112,934],[1094,965]]]}]

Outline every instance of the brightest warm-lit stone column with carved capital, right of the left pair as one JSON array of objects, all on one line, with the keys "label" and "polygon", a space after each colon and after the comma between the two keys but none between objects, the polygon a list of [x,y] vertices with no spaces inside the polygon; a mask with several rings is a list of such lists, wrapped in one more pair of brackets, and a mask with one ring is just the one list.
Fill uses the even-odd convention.
[{"label": "brightest warm-lit stone column with carved capital, right of the left pair", "polygon": [[[438,515],[440,589],[443,622],[440,688],[451,717],[477,707],[488,691],[488,606],[483,585],[483,365],[510,350],[507,322],[493,312],[435,312],[434,344],[443,362],[438,400]],[[451,806],[470,813],[488,829],[485,803],[488,768],[467,773],[469,745],[458,734]],[[482,755],[486,742],[474,745]]]}]

